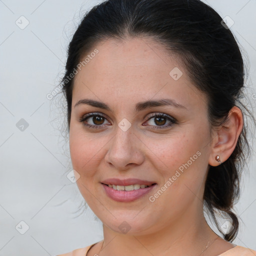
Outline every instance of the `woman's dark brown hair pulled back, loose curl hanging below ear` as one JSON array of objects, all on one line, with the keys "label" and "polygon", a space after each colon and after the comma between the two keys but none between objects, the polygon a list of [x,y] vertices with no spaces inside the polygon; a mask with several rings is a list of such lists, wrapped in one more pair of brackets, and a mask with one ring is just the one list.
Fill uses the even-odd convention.
[{"label": "woman's dark brown hair pulled back, loose curl hanging below ear", "polygon": [[[73,78],[67,77],[96,43],[111,38],[125,40],[127,36],[149,36],[178,56],[194,85],[208,98],[212,127],[222,124],[234,105],[243,109],[243,117],[246,111],[253,119],[240,101],[245,76],[241,52],[215,10],[200,0],[106,0],[84,15],[68,46],[61,81],[68,130]],[[209,166],[205,182],[204,205],[227,241],[238,231],[238,218],[231,209],[239,197],[240,174],[249,152],[244,122],[234,151],[222,164]],[[217,211],[231,220],[232,228],[226,234],[216,219]]]}]

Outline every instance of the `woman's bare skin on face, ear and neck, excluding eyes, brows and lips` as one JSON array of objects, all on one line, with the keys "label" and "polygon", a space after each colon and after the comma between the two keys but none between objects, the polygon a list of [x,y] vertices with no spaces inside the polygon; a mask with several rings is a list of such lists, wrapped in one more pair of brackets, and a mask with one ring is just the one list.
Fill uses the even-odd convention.
[{"label": "woman's bare skin on face, ear and neck, excluding eyes, brows and lips", "polygon": [[[77,186],[103,223],[104,240],[87,255],[216,256],[232,248],[234,244],[206,223],[202,198],[209,165],[219,164],[216,155],[224,162],[234,150],[243,125],[240,109],[233,107],[225,124],[211,128],[206,96],[192,84],[178,59],[153,40],[107,40],[95,48],[99,52],[74,78],[69,131],[72,166],[79,173]],[[174,67],[182,71],[177,80],[169,75]],[[82,103],[75,106],[84,98],[102,101],[112,111]],[[137,102],[162,98],[184,107],[135,111]],[[92,112],[104,118],[79,121]],[[164,116],[149,118],[150,113],[167,114],[176,122]],[[118,126],[123,118],[131,124],[126,131]],[[190,157],[189,167],[150,201],[149,196]],[[134,201],[119,202],[103,189],[101,181],[109,177],[146,179],[156,186]],[[127,233],[118,228],[124,221]]]}]

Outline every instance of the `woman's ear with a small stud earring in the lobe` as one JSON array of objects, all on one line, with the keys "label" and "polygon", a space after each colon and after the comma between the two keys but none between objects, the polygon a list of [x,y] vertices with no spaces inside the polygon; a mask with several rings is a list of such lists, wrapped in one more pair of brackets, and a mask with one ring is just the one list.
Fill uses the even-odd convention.
[{"label": "woman's ear with a small stud earring in the lobe", "polygon": [[240,108],[233,106],[228,113],[227,120],[221,124],[213,134],[209,165],[217,166],[220,164],[215,159],[216,155],[219,155],[219,160],[221,162],[228,159],[236,146],[242,127],[242,112]]}]

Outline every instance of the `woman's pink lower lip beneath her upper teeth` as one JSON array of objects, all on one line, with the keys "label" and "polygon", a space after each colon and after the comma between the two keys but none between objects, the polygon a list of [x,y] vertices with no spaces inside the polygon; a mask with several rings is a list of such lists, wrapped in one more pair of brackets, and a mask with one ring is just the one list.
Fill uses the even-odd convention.
[{"label": "woman's pink lower lip beneath her upper teeth", "polygon": [[[101,183],[102,184],[102,183]],[[106,184],[102,184],[106,194],[115,201],[119,202],[130,202],[138,199],[139,197],[149,193],[156,184],[147,186],[145,188],[139,188],[131,191],[115,190]]]}]

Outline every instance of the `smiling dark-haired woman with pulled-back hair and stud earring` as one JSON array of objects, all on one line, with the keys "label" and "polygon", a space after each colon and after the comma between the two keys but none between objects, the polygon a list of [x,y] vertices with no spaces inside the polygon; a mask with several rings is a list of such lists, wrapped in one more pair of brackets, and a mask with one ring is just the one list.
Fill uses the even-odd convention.
[{"label": "smiling dark-haired woman with pulled-back hair and stud earring", "polygon": [[104,239],[61,255],[256,255],[230,243],[249,147],[243,78],[231,31],[199,0],[93,7],[62,85],[77,186]]}]

